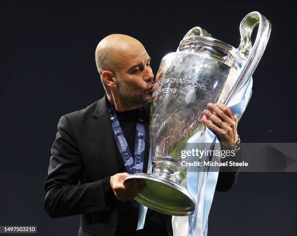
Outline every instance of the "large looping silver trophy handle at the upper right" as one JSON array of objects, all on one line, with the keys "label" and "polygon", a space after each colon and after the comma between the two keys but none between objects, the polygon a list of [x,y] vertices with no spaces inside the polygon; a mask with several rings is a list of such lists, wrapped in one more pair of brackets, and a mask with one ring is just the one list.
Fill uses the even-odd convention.
[{"label": "large looping silver trophy handle at the upper right", "polygon": [[[251,42],[251,34],[257,25],[259,25],[259,28],[253,46]],[[255,71],[266,48],[271,32],[271,24],[270,21],[259,12],[251,12],[243,18],[239,29],[241,42],[238,51],[243,53],[245,61],[241,67],[241,73],[226,97],[224,104],[228,104],[228,102],[231,101],[232,97],[240,91]]]}]

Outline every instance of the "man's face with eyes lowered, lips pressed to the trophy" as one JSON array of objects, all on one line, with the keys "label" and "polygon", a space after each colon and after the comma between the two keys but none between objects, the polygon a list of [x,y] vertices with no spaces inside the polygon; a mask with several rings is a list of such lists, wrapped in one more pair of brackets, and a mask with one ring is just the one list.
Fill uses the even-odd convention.
[{"label": "man's face with eyes lowered, lips pressed to the trophy", "polygon": [[150,101],[154,74],[145,48],[135,47],[118,56],[120,60],[116,77],[119,95],[132,104]]}]

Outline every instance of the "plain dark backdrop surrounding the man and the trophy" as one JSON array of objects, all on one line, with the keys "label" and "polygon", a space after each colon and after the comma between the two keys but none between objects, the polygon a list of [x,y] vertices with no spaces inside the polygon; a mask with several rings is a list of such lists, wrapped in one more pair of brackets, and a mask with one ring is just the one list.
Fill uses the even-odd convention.
[{"label": "plain dark backdrop surrounding the man and the trophy", "polygon": [[[297,141],[292,7],[110,2],[2,3],[0,225],[37,225],[42,236],[78,234],[78,216],[51,219],[46,214],[43,185],[59,118],[104,94],[94,52],[108,34],[140,40],[156,74],[162,57],[175,51],[192,27],[237,48],[240,21],[249,12],[261,12],[272,32],[238,132],[245,142]],[[296,177],[241,173],[229,192],[215,193],[209,236],[296,236]]]}]

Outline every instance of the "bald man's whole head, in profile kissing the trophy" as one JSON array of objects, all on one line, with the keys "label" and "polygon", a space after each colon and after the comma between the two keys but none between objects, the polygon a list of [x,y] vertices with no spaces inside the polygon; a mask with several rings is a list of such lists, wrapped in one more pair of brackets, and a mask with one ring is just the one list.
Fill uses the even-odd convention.
[{"label": "bald man's whole head, in profile kissing the trophy", "polygon": [[150,57],[138,40],[111,34],[99,42],[95,58],[108,96],[132,106],[150,101],[154,75]]}]

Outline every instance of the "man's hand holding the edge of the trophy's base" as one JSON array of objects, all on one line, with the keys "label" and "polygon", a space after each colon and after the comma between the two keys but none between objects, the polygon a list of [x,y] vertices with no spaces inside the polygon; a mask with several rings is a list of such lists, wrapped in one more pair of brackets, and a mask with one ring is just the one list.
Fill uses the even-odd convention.
[{"label": "man's hand holding the edge of the trophy's base", "polygon": [[124,172],[117,173],[110,177],[110,185],[114,190],[115,197],[121,202],[126,202],[134,198],[146,187],[146,184],[143,180],[133,179],[123,184],[124,180],[129,175],[130,174]]}]

